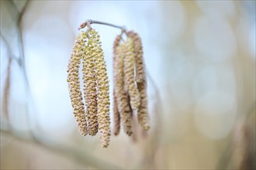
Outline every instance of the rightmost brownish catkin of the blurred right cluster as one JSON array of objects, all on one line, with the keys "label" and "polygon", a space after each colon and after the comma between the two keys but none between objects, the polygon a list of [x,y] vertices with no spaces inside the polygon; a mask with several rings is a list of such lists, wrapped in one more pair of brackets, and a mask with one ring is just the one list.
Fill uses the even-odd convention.
[{"label": "rightmost brownish catkin of the blurred right cluster", "polygon": [[133,39],[136,55],[136,81],[140,93],[140,107],[137,112],[138,122],[144,130],[148,130],[150,126],[147,113],[147,79],[144,69],[142,42],[140,36],[133,31],[128,32],[128,36]]}]

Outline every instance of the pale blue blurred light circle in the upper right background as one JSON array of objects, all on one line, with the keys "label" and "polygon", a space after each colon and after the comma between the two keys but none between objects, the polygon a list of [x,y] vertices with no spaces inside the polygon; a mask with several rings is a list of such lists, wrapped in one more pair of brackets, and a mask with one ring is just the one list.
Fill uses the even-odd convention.
[{"label": "pale blue blurred light circle in the upper right background", "polygon": [[195,22],[194,32],[195,46],[210,62],[222,62],[236,53],[237,43],[233,30],[220,16],[202,16]]}]

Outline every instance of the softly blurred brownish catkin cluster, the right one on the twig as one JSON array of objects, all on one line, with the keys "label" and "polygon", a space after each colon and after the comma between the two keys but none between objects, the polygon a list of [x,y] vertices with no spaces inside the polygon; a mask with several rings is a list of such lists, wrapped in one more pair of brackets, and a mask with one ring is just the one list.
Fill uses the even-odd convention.
[{"label": "softly blurred brownish catkin cluster, the right one on the twig", "polygon": [[117,36],[113,46],[114,70],[114,134],[119,134],[120,124],[129,136],[133,134],[134,120],[143,130],[149,129],[147,114],[147,81],[144,71],[143,49],[140,36],[130,31],[121,42]]}]

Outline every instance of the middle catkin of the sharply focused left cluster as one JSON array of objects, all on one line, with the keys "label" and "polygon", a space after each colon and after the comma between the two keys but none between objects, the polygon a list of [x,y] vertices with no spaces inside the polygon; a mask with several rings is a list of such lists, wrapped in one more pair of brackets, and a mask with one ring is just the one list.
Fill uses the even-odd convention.
[{"label": "middle catkin of the sharply focused left cluster", "polygon": [[[88,37],[86,32],[82,32],[83,36]],[[95,60],[91,55],[92,39],[88,39],[88,45],[85,46],[83,56],[83,80],[84,93],[86,104],[86,118],[88,121],[88,134],[95,135],[98,132],[98,117],[97,117],[97,90],[95,78]]]}]

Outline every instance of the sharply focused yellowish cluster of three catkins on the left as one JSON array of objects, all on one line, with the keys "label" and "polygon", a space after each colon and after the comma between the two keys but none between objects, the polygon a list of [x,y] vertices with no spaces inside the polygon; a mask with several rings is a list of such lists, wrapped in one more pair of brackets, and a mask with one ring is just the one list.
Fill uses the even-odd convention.
[{"label": "sharply focused yellowish cluster of three catkins on the left", "polygon": [[[79,81],[81,60],[85,101]],[[95,29],[79,33],[67,66],[67,73],[71,104],[79,131],[84,136],[93,136],[99,131],[102,147],[106,148],[110,137],[109,78],[99,33]]]}]

